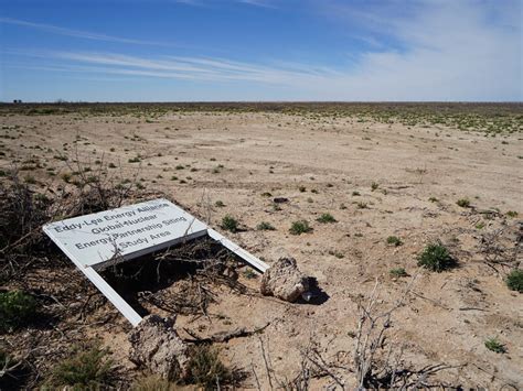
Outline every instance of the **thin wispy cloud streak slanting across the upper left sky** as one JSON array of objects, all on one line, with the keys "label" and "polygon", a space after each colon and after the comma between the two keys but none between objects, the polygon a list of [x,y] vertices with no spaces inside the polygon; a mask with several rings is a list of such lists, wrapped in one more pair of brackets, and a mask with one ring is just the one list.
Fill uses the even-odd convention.
[{"label": "thin wispy cloud streak slanting across the upper left sky", "polygon": [[53,34],[73,36],[73,37],[78,37],[78,39],[84,39],[84,40],[127,43],[127,44],[137,44],[137,45],[172,46],[172,44],[169,44],[169,43],[134,40],[134,39],[126,39],[121,36],[98,34],[98,33],[93,33],[88,31],[65,29],[65,28],[61,28],[61,26],[52,25],[52,24],[35,23],[35,22],[30,22],[30,21],[20,20],[20,19],[0,17],[0,23],[21,25],[29,29],[36,29],[36,30],[45,31]]}]

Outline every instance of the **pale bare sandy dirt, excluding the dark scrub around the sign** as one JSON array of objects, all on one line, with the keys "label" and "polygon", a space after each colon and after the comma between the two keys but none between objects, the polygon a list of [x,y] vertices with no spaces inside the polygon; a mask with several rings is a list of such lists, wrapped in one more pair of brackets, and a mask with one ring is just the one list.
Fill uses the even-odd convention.
[{"label": "pale bare sandy dirt, excluding the dark scrub around the sign", "polygon": [[[253,370],[262,388],[268,388],[262,344],[275,377],[285,381],[298,374],[300,351],[311,343],[327,362],[346,368],[335,373],[353,388],[357,303],[365,302],[377,281],[378,308],[391,308],[413,278],[412,292],[387,332],[395,351],[405,347],[405,367],[452,366],[431,378],[451,385],[523,387],[523,296],[508,290],[504,275],[485,265],[479,250],[485,232],[502,228],[510,238],[521,235],[521,133],[491,138],[436,126],[263,112],[169,113],[148,121],[14,115],[1,122],[1,133],[13,137],[1,141],[7,151],[1,166],[8,169],[13,158],[19,167],[30,159],[45,164],[26,171],[36,177],[35,186],[61,183],[61,173],[71,169],[53,156],[74,159],[77,140],[84,164],[114,163],[118,169],[111,173],[142,178],[146,191],[166,193],[218,230],[223,216],[231,215],[244,228],[226,232],[232,240],[269,264],[291,254],[318,280],[328,296],[323,303],[289,304],[260,296],[259,278],[241,273],[250,294],[221,289],[210,318],[179,317],[180,326],[201,336],[269,324],[263,334],[218,344],[226,362],[249,372],[244,388],[257,387]],[[129,163],[136,156],[139,162]],[[56,176],[47,176],[49,167]],[[275,207],[274,197],[289,200]],[[472,207],[458,206],[460,198]],[[224,206],[215,206],[217,200]],[[492,208],[499,210],[492,218],[480,213]],[[520,217],[506,217],[509,210]],[[318,222],[323,213],[337,222]],[[290,235],[291,222],[300,219],[313,231]],[[257,230],[262,221],[276,230]],[[387,245],[389,236],[399,237],[403,246]],[[437,239],[459,267],[441,273],[418,270],[416,256]],[[392,278],[393,268],[405,268],[410,276]],[[125,323],[120,316],[116,326],[86,333],[104,338],[124,367],[132,368]],[[505,345],[505,354],[485,348],[493,336]],[[331,383],[320,377],[311,388]]]}]

